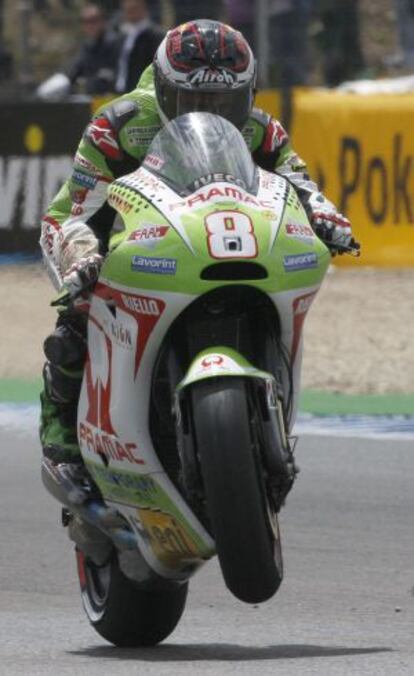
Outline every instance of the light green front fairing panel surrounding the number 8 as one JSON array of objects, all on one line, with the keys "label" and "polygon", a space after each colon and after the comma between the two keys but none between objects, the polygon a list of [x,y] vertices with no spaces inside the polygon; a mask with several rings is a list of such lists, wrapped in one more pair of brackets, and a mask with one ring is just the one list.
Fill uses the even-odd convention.
[{"label": "light green front fairing panel surrounding the number 8", "polygon": [[[118,185],[115,181],[111,193],[119,193],[122,200],[131,205],[131,210],[124,214],[125,230],[114,235],[111,239],[112,255],[104,264],[102,274],[106,279],[124,284],[132,288],[165,290],[169,292],[199,295],[211,291],[218,286],[230,285],[234,282],[210,281],[200,278],[202,271],[207,266],[223,261],[212,258],[208,249],[208,234],[204,223],[205,218],[215,211],[230,210],[247,214],[254,223],[254,233],[257,241],[258,254],[254,262],[266,268],[266,279],[255,279],[244,282],[248,285],[261,289],[267,294],[287,291],[289,289],[317,286],[322,282],[326,269],[330,264],[330,254],[325,245],[317,238],[312,244],[288,237],[283,224],[290,221],[307,223],[305,211],[300,204],[296,192],[289,186],[289,194],[282,225],[279,228],[276,240],[270,249],[271,228],[270,220],[274,215],[266,210],[260,211],[246,206],[234,200],[214,202],[208,206],[193,208],[184,211],[181,215],[186,234],[188,235],[194,253],[186,246],[184,241],[171,223],[145,198],[126,188]],[[178,198],[179,199],[179,198]],[[128,241],[132,233],[142,227],[170,226],[167,234],[157,243],[155,249],[148,249],[137,241]],[[284,258],[289,255],[316,253],[318,265],[315,268],[286,272]],[[149,274],[137,272],[132,269],[133,256],[142,256],[145,259],[155,257],[173,260],[175,274]],[[243,258],[232,258],[232,261]]]}]

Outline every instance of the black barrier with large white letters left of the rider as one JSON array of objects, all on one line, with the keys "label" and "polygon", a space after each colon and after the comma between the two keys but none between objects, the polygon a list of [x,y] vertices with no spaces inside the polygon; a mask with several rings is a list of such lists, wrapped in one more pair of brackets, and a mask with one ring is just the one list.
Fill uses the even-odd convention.
[{"label": "black barrier with large white letters left of the rider", "polygon": [[89,103],[0,105],[0,253],[38,251],[41,217],[89,118]]}]

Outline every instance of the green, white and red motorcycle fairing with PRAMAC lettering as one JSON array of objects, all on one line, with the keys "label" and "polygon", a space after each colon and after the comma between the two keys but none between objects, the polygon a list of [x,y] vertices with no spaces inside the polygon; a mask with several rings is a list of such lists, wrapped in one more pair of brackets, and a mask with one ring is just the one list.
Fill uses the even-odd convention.
[{"label": "green, white and red motorcycle fairing with PRAMAC lettering", "polygon": [[[237,284],[264,294],[276,308],[280,338],[293,369],[291,427],[303,322],[330,260],[293,188],[280,176],[252,168],[237,130],[231,146],[239,148],[241,159],[236,162],[224,138],[226,153],[220,153],[218,144],[214,152],[217,158],[229,158],[230,164],[217,167],[209,160],[206,166],[213,155],[208,148],[210,117],[196,116],[205,140],[203,162],[194,157],[195,148],[203,146],[201,135],[195,136],[197,143],[184,144],[183,128],[196,127],[191,116],[184,127],[172,123],[162,132],[164,141],[154,142],[165,154],[157,169],[150,160],[110,186],[109,202],[122,216],[123,229],[111,238],[91,304],[90,359],[79,409],[81,450],[95,480],[108,503],[128,518],[149,565],[175,579],[188,578],[211,557],[214,542],[161,465],[149,429],[151,382],[166,336],[190,305],[214,289]],[[226,126],[220,120],[214,124],[217,130]],[[194,174],[189,170],[191,155]],[[177,163],[181,158],[181,168],[164,176],[173,157]],[[216,169],[231,170],[232,180],[213,176],[206,185],[179,194],[179,186],[187,191],[188,181],[200,180],[201,171],[220,173]],[[246,263],[253,268],[243,267]],[[242,278],[243,271],[259,268],[260,278]],[[206,274],[211,269],[219,271],[218,277]],[[222,270],[239,278],[220,278]],[[212,350],[210,354],[214,346]],[[233,361],[233,368],[237,363],[241,368],[240,355]],[[189,374],[196,377],[194,370]],[[282,374],[286,388],[289,377]],[[166,534],[172,539],[167,541]]]}]

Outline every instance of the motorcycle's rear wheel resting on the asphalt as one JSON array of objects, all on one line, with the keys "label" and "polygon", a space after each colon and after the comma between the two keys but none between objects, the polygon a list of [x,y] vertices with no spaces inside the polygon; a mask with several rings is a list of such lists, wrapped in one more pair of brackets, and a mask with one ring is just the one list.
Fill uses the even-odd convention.
[{"label": "motorcycle's rear wheel resting on the asphalt", "polygon": [[188,583],[164,589],[141,589],[119,568],[114,554],[97,566],[77,550],[83,607],[94,629],[120,647],[160,643],[183,614]]}]

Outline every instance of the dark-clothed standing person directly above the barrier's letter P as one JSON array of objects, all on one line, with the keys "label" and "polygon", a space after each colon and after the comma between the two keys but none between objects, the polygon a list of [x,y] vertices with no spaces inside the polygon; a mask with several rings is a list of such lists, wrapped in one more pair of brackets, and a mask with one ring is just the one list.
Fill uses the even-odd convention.
[{"label": "dark-clothed standing person directly above the barrier's letter P", "polygon": [[320,44],[325,81],[336,87],[344,80],[355,79],[364,69],[358,0],[318,0],[317,9],[323,25]]}]

